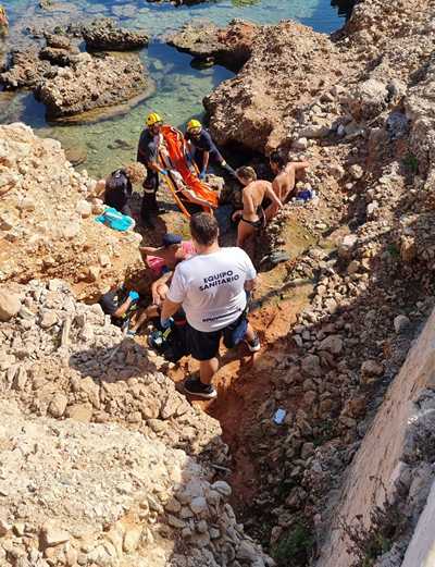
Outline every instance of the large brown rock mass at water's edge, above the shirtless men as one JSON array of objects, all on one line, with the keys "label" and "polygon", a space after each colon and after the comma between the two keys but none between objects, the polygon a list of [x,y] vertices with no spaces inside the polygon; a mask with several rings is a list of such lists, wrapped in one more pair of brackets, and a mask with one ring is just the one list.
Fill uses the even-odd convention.
[{"label": "large brown rock mass at water's edge, above the shirtless men", "polygon": [[344,61],[327,36],[294,22],[259,26],[250,58],[204,106],[220,144],[237,141],[264,151],[285,136],[285,115],[341,76]]}]

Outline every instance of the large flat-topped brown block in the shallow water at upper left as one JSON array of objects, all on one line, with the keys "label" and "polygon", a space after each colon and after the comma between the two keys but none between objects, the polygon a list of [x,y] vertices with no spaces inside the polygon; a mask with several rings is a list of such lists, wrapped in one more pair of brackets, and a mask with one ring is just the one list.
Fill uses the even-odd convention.
[{"label": "large flat-topped brown block in the shallow water at upper left", "polygon": [[45,81],[36,95],[50,118],[80,114],[127,101],[147,87],[138,57],[92,58],[82,53],[71,67]]}]

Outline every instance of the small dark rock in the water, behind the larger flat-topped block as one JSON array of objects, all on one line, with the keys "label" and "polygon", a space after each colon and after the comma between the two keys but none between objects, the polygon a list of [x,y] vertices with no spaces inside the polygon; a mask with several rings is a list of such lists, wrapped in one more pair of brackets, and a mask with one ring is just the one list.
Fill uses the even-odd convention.
[{"label": "small dark rock in the water, behind the larger flat-topped block", "polygon": [[116,27],[113,20],[103,17],[95,20],[83,28],[83,38],[87,49],[125,51],[148,46],[149,37],[144,32],[133,32]]}]

